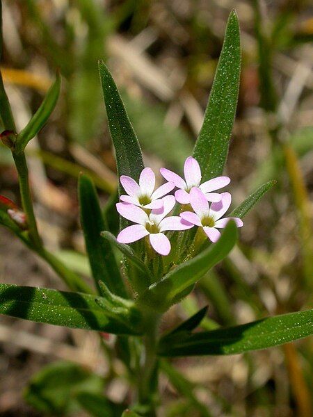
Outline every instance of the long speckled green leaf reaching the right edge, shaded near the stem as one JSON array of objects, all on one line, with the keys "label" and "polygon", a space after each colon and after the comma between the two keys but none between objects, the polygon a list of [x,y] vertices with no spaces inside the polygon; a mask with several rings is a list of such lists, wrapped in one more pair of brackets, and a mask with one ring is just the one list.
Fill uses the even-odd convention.
[{"label": "long speckled green leaf reaching the right edge, shaded near the stem", "polygon": [[313,309],[257,320],[235,327],[165,336],[159,354],[166,357],[238,354],[296,341],[313,334]]}]

